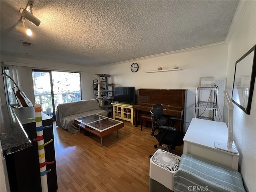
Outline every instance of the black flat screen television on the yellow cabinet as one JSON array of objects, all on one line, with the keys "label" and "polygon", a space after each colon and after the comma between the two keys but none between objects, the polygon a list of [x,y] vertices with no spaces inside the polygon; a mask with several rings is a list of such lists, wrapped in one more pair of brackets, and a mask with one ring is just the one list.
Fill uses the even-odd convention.
[{"label": "black flat screen television on the yellow cabinet", "polygon": [[114,87],[114,101],[136,104],[135,87]]}]

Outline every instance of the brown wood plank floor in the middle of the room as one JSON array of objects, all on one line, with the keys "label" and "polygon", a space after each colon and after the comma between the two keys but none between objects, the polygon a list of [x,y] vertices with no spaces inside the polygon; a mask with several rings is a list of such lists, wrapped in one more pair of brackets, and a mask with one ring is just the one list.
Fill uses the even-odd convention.
[{"label": "brown wood plank floor in the middle of the room", "polygon": [[[57,192],[148,192],[149,155],[156,139],[150,127],[124,127],[105,136],[69,134],[54,123]],[[182,146],[180,148],[182,151]]]}]

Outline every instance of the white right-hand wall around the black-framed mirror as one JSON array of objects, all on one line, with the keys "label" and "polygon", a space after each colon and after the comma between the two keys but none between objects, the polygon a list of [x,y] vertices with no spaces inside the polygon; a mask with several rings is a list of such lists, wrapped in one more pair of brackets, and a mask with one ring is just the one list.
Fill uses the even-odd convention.
[{"label": "white right-hand wall around the black-framed mirror", "polygon": [[[227,90],[231,96],[236,61],[256,44],[256,1],[250,1],[228,46]],[[234,105],[234,142],[247,191],[256,191],[256,84],[250,115]]]}]

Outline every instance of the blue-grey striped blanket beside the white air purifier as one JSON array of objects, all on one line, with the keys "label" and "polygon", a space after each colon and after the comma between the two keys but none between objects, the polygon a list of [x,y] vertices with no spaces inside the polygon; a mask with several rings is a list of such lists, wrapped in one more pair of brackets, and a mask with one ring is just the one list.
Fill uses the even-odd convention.
[{"label": "blue-grey striped blanket beside the white air purifier", "polygon": [[182,154],[174,173],[174,192],[245,192],[241,174],[229,167]]}]

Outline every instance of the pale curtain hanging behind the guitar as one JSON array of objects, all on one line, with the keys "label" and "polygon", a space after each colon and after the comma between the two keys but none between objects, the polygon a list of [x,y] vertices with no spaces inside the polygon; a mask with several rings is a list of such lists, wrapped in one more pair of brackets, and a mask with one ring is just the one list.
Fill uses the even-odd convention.
[{"label": "pale curtain hanging behind the guitar", "polygon": [[[20,90],[26,97],[35,104],[35,95],[33,88],[32,68],[24,66],[4,65],[10,71],[10,77],[19,85]],[[17,89],[16,89],[17,90]],[[2,99],[2,98],[1,98]]]}]

